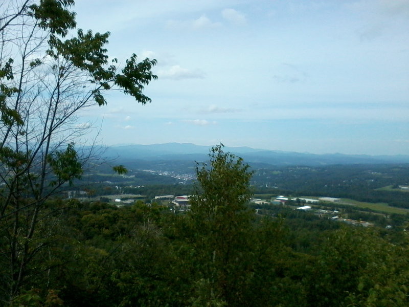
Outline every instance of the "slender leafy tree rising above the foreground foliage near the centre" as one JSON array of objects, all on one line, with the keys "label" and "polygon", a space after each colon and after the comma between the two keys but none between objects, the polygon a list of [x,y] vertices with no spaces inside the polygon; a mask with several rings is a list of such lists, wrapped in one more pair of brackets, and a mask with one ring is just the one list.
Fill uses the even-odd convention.
[{"label": "slender leafy tree rising above the foreground foliage near the centre", "polygon": [[210,151],[210,165],[196,164],[197,183],[190,217],[200,275],[193,305],[242,306],[251,278],[252,219],[247,203],[252,196],[249,166],[223,145]]}]

